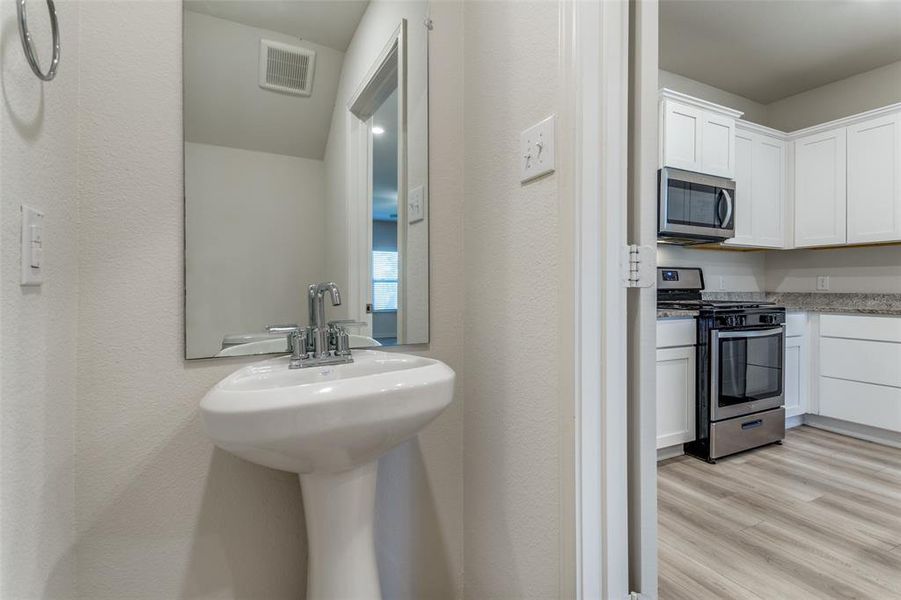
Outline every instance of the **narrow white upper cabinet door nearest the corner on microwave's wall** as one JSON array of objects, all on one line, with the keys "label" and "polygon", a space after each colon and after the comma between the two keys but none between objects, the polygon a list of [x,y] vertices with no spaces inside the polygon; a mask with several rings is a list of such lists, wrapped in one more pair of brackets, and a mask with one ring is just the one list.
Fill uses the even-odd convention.
[{"label": "narrow white upper cabinet door nearest the corner on microwave's wall", "polygon": [[785,142],[757,136],[753,165],[754,245],[782,248],[785,246]]}]

